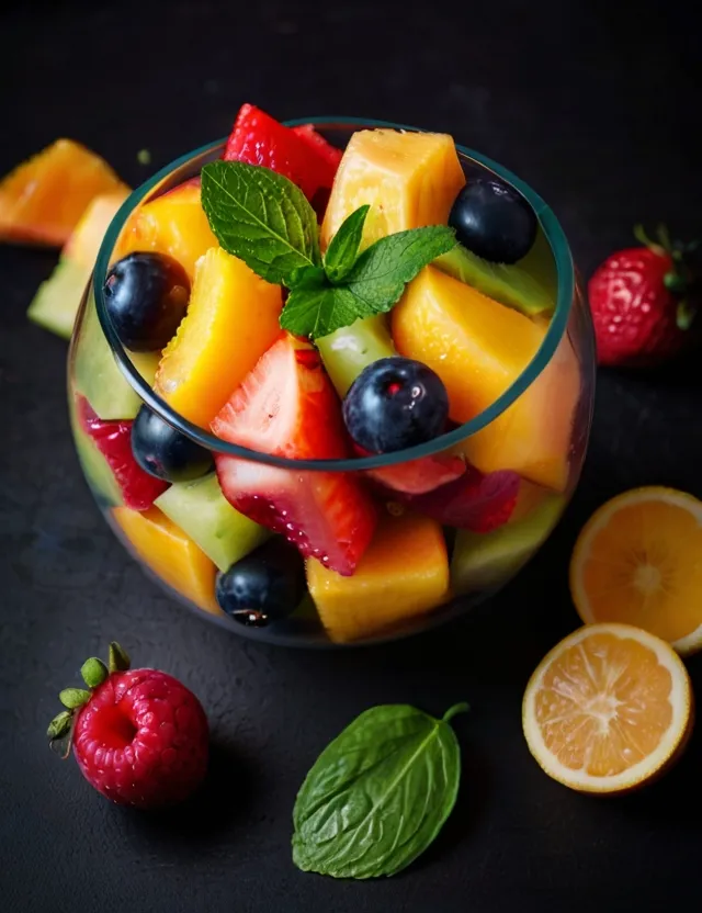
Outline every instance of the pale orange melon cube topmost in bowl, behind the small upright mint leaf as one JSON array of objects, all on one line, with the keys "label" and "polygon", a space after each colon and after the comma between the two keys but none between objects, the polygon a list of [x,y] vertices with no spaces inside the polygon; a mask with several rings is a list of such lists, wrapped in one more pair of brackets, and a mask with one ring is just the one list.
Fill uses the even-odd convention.
[{"label": "pale orange melon cube topmost in bowl, behind the small upright mint leaf", "polygon": [[448,134],[358,131],[337,171],[321,226],[321,247],[327,247],[347,216],[365,204],[371,211],[362,247],[407,228],[445,225],[464,184]]}]

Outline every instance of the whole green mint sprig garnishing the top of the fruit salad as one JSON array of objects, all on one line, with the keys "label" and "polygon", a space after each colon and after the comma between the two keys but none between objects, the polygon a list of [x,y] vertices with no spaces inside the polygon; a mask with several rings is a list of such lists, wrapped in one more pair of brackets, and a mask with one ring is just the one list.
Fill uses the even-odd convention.
[{"label": "whole green mint sprig garnishing the top of the fruit salad", "polygon": [[299,188],[240,161],[205,165],[202,205],[225,250],[291,290],[281,327],[313,339],[389,311],[405,285],[456,244],[452,228],[430,225],[388,235],[359,255],[365,205],[342,223],[322,262],[317,218]]}]

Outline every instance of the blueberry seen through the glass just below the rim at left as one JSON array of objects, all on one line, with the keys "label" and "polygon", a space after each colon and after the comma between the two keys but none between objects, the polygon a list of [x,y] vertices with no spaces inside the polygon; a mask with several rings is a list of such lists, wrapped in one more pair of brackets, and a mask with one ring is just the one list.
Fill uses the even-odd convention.
[{"label": "blueberry seen through the glass just below the rim at left", "polygon": [[141,406],[134,419],[132,452],[145,472],[167,482],[200,478],[214,469],[208,450],[181,435],[148,406]]}]

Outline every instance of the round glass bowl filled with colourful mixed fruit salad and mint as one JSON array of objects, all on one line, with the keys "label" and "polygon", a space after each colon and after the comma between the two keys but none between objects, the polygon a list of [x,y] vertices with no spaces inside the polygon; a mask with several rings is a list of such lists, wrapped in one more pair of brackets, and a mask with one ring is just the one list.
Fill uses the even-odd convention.
[{"label": "round glass bowl filled with colourful mixed fruit salad and mint", "polygon": [[393,638],[503,586],[558,521],[592,403],[544,204],[449,135],[249,104],[135,198],[69,393],[150,572],[292,644]]}]

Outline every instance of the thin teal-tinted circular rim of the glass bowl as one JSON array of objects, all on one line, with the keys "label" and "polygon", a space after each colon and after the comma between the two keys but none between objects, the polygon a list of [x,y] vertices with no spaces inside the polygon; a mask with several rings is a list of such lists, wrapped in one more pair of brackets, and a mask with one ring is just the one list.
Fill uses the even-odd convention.
[{"label": "thin teal-tinted circular rim of the glass bowl", "polygon": [[[365,117],[296,117],[294,120],[284,121],[283,123],[285,126],[291,127],[301,126],[303,124],[313,124],[313,126],[320,129],[352,126],[355,128],[374,129],[376,127],[386,127],[390,129],[404,129],[418,133],[427,132],[421,127]],[[405,450],[397,450],[392,453],[380,453],[370,456],[349,456],[333,460],[295,460],[285,456],[276,456],[270,453],[262,453],[257,450],[239,447],[238,444],[229,441],[224,441],[220,438],[205,431],[200,426],[194,425],[192,421],[189,421],[182,415],[172,409],[168,403],[149,386],[133,364],[129,356],[127,354],[127,350],[117,337],[112,319],[107,313],[105,297],[103,294],[103,285],[104,278],[107,274],[112,251],[120,237],[120,233],[122,232],[122,228],[132,212],[140,204],[144,198],[147,196],[159,182],[166,180],[173,171],[186,166],[190,161],[194,161],[197,158],[204,158],[205,156],[213,154],[219,147],[224,146],[225,143],[226,138],[217,139],[215,142],[207,143],[193,151],[185,153],[185,155],[180,156],[169,165],[166,165],[151,178],[139,184],[139,187],[137,187],[129,194],[129,196],[127,196],[110,223],[100,246],[100,251],[98,253],[92,275],[92,288],[98,319],[122,374],[137,393],[139,398],[173,428],[181,431],[207,450],[230,456],[238,456],[257,463],[263,463],[265,465],[278,466],[280,469],[320,472],[359,472],[363,470],[374,470],[384,466],[399,465],[411,460],[435,455],[442,453],[451,447],[460,444],[466,438],[472,437],[477,431],[480,431],[487,425],[495,421],[496,418],[508,409],[514,401],[521,396],[529,386],[531,386],[541,372],[546,368],[562,338],[565,336],[575,294],[575,269],[565,233],[563,232],[563,228],[561,227],[561,224],[551,207],[534,190],[531,189],[531,187],[529,187],[529,184],[487,156],[456,143],[455,147],[461,155],[467,157],[468,159],[473,159],[488,170],[495,172],[502,180],[517,188],[517,190],[519,190],[520,193],[522,193],[529,201],[541,224],[546,241],[551,247],[556,266],[556,308],[551,318],[548,329],[546,330],[542,343],[532,360],[519,374],[519,376],[516,377],[514,381],[507,387],[507,390],[505,390],[486,409],[483,409],[483,412],[474,416],[469,421],[464,422],[457,428],[454,428],[438,438],[433,438],[426,443],[417,444]]]}]

